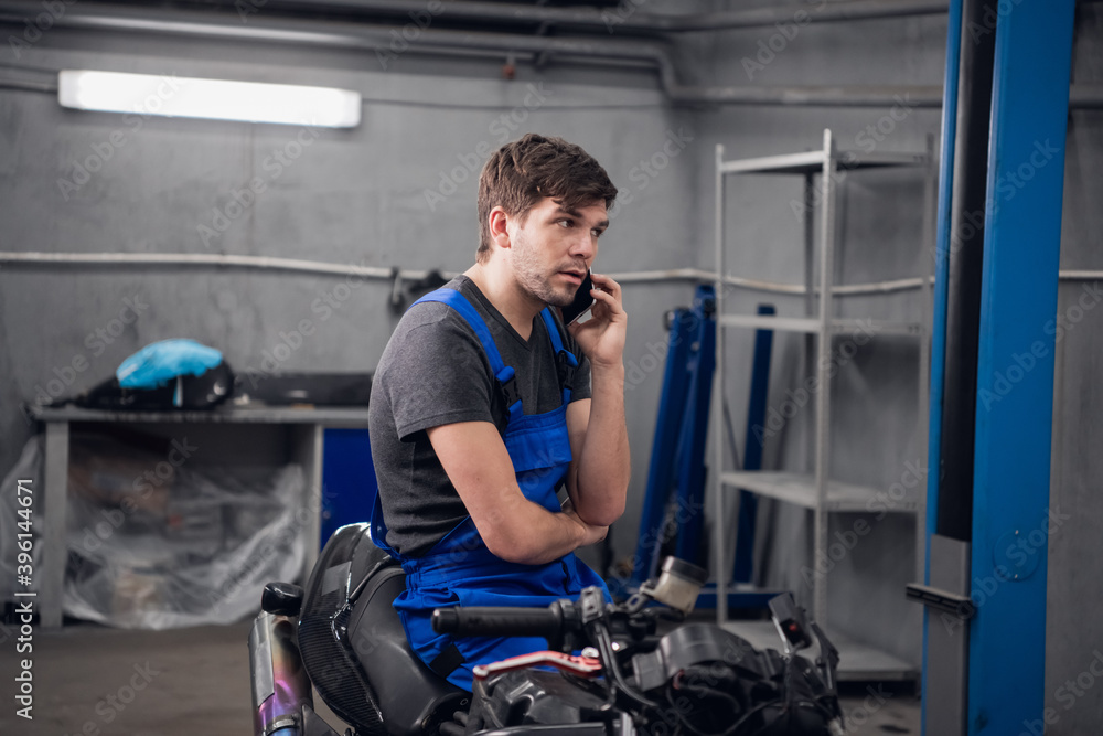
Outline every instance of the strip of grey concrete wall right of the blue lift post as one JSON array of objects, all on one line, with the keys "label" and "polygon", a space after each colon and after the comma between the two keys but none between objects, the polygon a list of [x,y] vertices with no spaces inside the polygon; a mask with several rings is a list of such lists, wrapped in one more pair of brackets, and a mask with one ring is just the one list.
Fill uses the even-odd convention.
[{"label": "strip of grey concrete wall right of the blue lift post", "polygon": [[[1103,7],[1077,8],[1073,84],[1103,84]],[[1064,157],[1061,268],[1103,268],[1103,116],[1073,111]],[[1057,376],[1053,391],[1053,452],[1050,509],[1062,523],[1049,537],[1046,610],[1047,734],[1096,733],[1103,723],[1103,620],[1092,611],[1103,601],[1097,559],[1103,540],[1103,284],[1063,281],[1054,320]],[[1008,458],[1008,461],[1014,461]],[[1040,513],[1039,513],[1040,515]],[[1040,521],[1040,520],[1039,520]],[[1009,646],[1014,647],[1014,642]]]}]

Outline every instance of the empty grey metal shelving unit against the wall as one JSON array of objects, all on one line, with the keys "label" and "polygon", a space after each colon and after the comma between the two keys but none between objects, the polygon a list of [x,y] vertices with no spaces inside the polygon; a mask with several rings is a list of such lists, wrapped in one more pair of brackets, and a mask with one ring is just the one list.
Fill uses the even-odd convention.
[{"label": "empty grey metal shelving unit against the wall", "polygon": [[[826,554],[828,546],[828,514],[837,512],[896,512],[915,516],[915,568],[922,579],[923,543],[925,527],[925,503],[923,483],[909,489],[902,498],[891,498],[887,489],[868,488],[854,483],[833,480],[829,473],[829,423],[831,423],[831,350],[832,338],[836,334],[850,332],[859,327],[875,334],[911,335],[919,340],[919,404],[920,457],[925,456],[927,413],[928,403],[930,338],[927,321],[929,320],[932,284],[924,275],[914,279],[906,279],[910,288],[920,288],[924,292],[924,318],[915,322],[885,322],[878,320],[843,319],[835,317],[833,299],[846,294],[878,294],[898,290],[904,280],[886,281],[870,285],[839,286],[832,282],[835,273],[836,248],[836,189],[837,175],[840,170],[857,171],[863,169],[885,167],[913,167],[924,172],[924,217],[922,243],[933,243],[934,223],[934,172],[933,141],[928,141],[925,153],[863,153],[839,154],[835,149],[831,130],[824,130],[823,148],[817,151],[770,156],[753,159],[725,161],[724,147],[716,150],[716,295],[717,324],[720,328],[769,329],[803,333],[807,335],[810,352],[811,343],[816,343],[816,378],[817,385],[825,388],[816,392],[815,397],[815,440],[814,472],[811,474],[779,471],[725,471],[722,440],[725,426],[722,417],[724,397],[724,329],[717,330],[716,337],[716,386],[713,392],[714,406],[711,410],[714,439],[715,471],[711,473],[714,512],[717,523],[714,524],[713,551],[714,566],[717,570],[717,619],[725,628],[754,643],[762,638],[763,644],[769,638],[777,639],[772,626],[763,627],[759,621],[729,621],[727,597],[725,595],[726,556],[724,551],[724,524],[726,519],[726,494],[731,491],[747,490],[761,497],[777,499],[786,503],[803,506],[813,512],[814,550]],[[728,314],[724,310],[725,275],[725,179],[728,175],[745,174],[799,174],[805,181],[805,203],[810,216],[805,225],[805,284],[802,289],[805,296],[805,317],[767,317],[758,314]],[[818,181],[817,181],[818,180]],[[818,190],[816,189],[818,186]],[[818,194],[818,198],[816,196]],[[816,200],[818,199],[818,203]],[[818,210],[820,248],[815,253],[815,227],[811,217],[813,209]],[[813,282],[815,266],[818,265],[818,282]],[[767,282],[763,282],[767,284]],[[793,294],[792,285],[777,285],[773,289],[782,294]],[[906,287],[908,288],[908,287]],[[765,290],[771,290],[769,287]],[[875,338],[876,339],[876,338]],[[899,493],[897,494],[899,495]],[[828,636],[832,637],[842,654],[839,676],[844,680],[892,680],[909,679],[917,674],[917,668],[886,652],[881,652],[866,643],[855,641],[839,632],[833,632],[827,621],[827,583],[825,576],[815,578],[813,590],[813,615],[817,621],[825,623]],[[760,630],[761,629],[761,630]]]}]

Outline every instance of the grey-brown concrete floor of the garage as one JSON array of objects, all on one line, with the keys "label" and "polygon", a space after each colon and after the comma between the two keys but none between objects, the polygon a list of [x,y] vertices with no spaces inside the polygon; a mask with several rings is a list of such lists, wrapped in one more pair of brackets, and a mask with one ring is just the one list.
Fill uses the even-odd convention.
[{"label": "grey-brown concrete floor of the garage", "polygon": [[[33,633],[34,721],[15,716],[14,640],[0,644],[0,734],[4,736],[234,736],[249,734],[249,623],[174,631],[93,625]],[[26,654],[20,654],[22,659]],[[878,692],[876,686],[872,691]],[[919,736],[911,687],[849,686],[848,734]],[[318,710],[334,726],[340,722]],[[339,729],[343,730],[343,726]]]}]

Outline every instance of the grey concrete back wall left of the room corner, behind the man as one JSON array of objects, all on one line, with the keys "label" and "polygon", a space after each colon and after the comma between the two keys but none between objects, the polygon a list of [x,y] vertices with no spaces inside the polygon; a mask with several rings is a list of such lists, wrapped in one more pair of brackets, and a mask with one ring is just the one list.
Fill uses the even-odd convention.
[{"label": "grey concrete back wall left of the room corner, behind the man", "polygon": [[[640,169],[677,138],[688,113],[665,105],[645,75],[522,66],[506,82],[490,62],[401,57],[384,71],[374,53],[63,31],[24,50],[21,63],[313,83],[357,89],[366,102],[357,129],[315,137],[296,127],[77,113],[53,94],[3,89],[4,250],[226,253],[460,271],[473,263],[486,153],[535,130],[578,142],[621,188],[599,269],[696,262],[696,212],[684,204],[696,161],[686,153]],[[78,164],[99,170],[85,181]],[[254,180],[264,191],[237,207],[234,192]],[[350,288],[344,277],[286,271],[3,267],[0,468],[32,431],[21,403],[40,391],[87,388],[156,340],[194,338],[223,350],[237,372],[260,372],[266,352],[296,343],[291,333],[309,320],[312,333],[280,370],[371,371],[397,322],[389,295],[389,281]],[[690,296],[686,284],[627,288],[630,361],[662,340],[663,310]],[[650,448],[661,374],[632,387],[634,487],[646,476],[641,448]],[[631,550],[635,524],[630,511],[619,548]]]}]

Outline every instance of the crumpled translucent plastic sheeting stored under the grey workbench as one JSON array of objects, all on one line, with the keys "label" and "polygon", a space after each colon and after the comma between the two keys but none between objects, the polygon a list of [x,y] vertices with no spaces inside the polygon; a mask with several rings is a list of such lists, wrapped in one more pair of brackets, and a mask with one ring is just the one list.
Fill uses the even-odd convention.
[{"label": "crumpled translucent plastic sheeting stored under the grey workbench", "polygon": [[[14,527],[14,478],[43,478],[41,458],[41,438],[33,438],[2,487],[3,529]],[[229,623],[258,610],[265,583],[298,577],[303,532],[318,523],[302,511],[299,466],[171,458],[110,438],[73,437],[66,615],[136,629]],[[0,564],[14,559],[8,544],[3,535]]]}]

